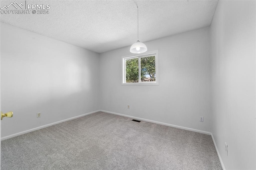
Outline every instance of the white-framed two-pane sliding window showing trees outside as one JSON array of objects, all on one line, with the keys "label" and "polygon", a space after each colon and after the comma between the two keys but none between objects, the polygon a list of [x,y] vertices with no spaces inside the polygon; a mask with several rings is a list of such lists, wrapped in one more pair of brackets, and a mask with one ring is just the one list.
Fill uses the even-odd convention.
[{"label": "white-framed two-pane sliding window showing trees outside", "polygon": [[122,85],[158,85],[158,51],[123,57]]}]

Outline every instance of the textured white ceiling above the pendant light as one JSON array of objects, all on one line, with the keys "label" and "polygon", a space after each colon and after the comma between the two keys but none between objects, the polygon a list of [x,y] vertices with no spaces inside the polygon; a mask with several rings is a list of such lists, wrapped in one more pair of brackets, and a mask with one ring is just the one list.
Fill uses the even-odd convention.
[{"label": "textured white ceiling above the pendant light", "polygon": [[[1,0],[0,8],[15,0]],[[24,3],[25,0],[17,0]],[[209,26],[218,0],[135,0],[141,42]],[[0,14],[1,22],[102,53],[137,41],[133,0],[26,0],[49,14]],[[15,10],[10,6],[9,9]]]}]

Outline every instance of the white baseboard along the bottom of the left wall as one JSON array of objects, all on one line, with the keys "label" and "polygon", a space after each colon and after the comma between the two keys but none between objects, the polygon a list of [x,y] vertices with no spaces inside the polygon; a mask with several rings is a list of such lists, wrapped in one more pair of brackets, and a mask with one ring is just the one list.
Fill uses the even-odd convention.
[{"label": "white baseboard along the bottom of the left wall", "polygon": [[99,112],[100,110],[98,111],[93,111],[93,112],[90,112],[90,113],[85,113],[83,115],[79,115],[79,116],[75,116],[75,117],[71,117],[71,118],[68,118],[68,119],[65,119],[65,120],[62,120],[62,121],[58,121],[58,122],[54,122],[54,123],[50,123],[50,124],[47,124],[47,125],[43,125],[43,126],[40,126],[40,127],[36,127],[36,128],[32,128],[32,129],[29,129],[29,130],[25,130],[25,131],[22,131],[22,132],[18,132],[18,133],[15,133],[15,134],[11,134],[9,136],[4,136],[1,138],[1,140],[6,140],[8,138],[12,138],[12,137],[15,137],[15,136],[19,136],[21,134],[25,134],[25,133],[28,133],[28,132],[32,132],[32,131],[35,131],[35,130],[38,130],[38,129],[41,129],[41,128],[45,128],[45,127],[49,127],[49,126],[52,126],[52,125],[56,125],[56,124],[59,124],[59,123],[62,123],[62,122],[66,122],[66,121],[70,121],[72,119],[76,119],[78,117],[83,117],[83,116],[86,116],[86,115],[90,115],[92,113],[96,113],[96,112]]}]

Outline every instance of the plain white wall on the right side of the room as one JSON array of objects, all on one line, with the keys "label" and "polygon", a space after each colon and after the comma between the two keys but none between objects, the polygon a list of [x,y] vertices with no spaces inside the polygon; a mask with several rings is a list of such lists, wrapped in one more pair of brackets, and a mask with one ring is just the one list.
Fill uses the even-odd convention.
[{"label": "plain white wall on the right side of the room", "polygon": [[211,24],[212,133],[228,170],[256,169],[255,3],[220,0]]}]

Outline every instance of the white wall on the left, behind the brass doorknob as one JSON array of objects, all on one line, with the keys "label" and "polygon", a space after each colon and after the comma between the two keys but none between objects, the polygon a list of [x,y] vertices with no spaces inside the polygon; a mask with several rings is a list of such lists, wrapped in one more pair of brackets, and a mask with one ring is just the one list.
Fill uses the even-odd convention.
[{"label": "white wall on the left, behind the brass doorknob", "polygon": [[1,23],[2,111],[14,112],[2,137],[99,110],[98,63],[98,53]]}]

